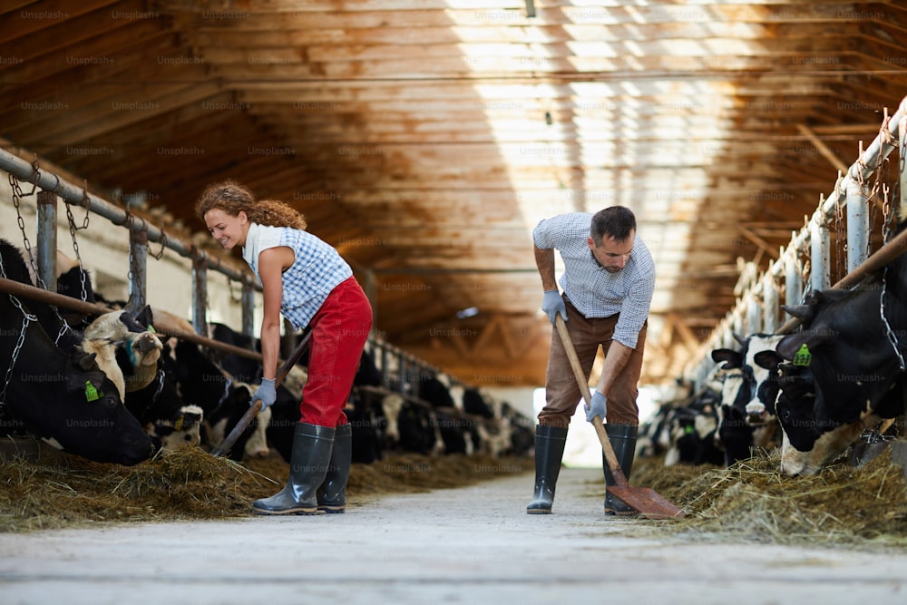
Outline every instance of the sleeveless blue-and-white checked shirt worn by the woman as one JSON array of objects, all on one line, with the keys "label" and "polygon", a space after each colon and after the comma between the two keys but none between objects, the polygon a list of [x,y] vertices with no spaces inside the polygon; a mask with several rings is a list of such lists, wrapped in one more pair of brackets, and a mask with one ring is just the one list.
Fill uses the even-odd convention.
[{"label": "sleeveless blue-and-white checked shirt worn by the woman", "polygon": [[331,290],[352,277],[353,269],[336,249],[307,231],[251,223],[242,258],[259,281],[258,255],[278,246],[287,246],[296,253],[296,260],[283,273],[280,312],[296,329],[306,327]]}]

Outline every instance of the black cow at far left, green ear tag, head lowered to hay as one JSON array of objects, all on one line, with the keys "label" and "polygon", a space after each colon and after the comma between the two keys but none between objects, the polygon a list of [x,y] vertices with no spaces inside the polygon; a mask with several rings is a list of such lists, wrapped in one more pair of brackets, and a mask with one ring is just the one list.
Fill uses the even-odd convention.
[{"label": "black cow at far left, green ear tag, head lowered to hay", "polygon": [[[0,274],[30,283],[12,244],[0,240]],[[120,391],[96,356],[72,343],[58,346],[37,321],[42,303],[0,296],[0,390],[6,422],[66,452],[101,463],[138,464],[152,454],[151,438],[122,405]],[[45,309],[46,310],[46,309]]]}]

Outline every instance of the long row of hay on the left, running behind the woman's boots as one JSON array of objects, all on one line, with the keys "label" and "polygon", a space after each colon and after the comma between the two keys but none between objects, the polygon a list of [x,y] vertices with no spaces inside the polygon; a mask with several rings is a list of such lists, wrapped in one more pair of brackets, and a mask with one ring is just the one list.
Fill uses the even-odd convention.
[{"label": "long row of hay on the left, running behind the woman's boots", "polygon": [[[254,500],[283,487],[288,470],[279,457],[238,464],[198,448],[127,467],[43,447],[37,460],[0,463],[0,532],[246,517]],[[530,470],[532,461],[525,459],[390,456],[353,465],[348,504],[378,493],[425,492]]]}]

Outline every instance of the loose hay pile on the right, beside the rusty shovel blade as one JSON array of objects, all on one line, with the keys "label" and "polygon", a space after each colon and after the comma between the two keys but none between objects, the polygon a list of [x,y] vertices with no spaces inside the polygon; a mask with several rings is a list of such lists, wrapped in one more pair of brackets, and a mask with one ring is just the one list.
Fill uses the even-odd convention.
[{"label": "loose hay pile on the right, beside the rusty shovel blade", "polygon": [[780,454],[727,469],[649,464],[632,483],[683,508],[687,519],[664,528],[693,539],[907,547],[907,482],[890,449],[862,467],[842,462],[806,477],[779,469]]}]

